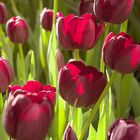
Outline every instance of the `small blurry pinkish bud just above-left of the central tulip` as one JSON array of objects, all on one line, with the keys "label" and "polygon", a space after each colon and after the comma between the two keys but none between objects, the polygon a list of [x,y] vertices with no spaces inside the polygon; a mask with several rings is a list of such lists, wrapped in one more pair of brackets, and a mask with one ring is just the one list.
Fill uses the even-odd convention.
[{"label": "small blurry pinkish bud just above-left of the central tulip", "polygon": [[62,54],[60,49],[57,49],[57,51],[56,51],[56,59],[57,59],[58,70],[60,70],[65,64],[64,56],[63,56],[63,54]]}]

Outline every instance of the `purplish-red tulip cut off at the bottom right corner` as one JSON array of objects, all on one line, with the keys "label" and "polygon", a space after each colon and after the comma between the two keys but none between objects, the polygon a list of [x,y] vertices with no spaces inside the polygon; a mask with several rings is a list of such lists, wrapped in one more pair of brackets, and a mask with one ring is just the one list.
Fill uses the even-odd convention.
[{"label": "purplish-red tulip cut off at the bottom right corner", "polygon": [[140,126],[134,120],[117,120],[110,128],[108,140],[139,140]]}]

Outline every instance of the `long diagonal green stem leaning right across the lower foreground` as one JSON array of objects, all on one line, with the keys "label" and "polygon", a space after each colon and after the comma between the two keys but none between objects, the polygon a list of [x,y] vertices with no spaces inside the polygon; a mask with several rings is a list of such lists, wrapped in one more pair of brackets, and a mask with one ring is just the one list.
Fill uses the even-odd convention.
[{"label": "long diagonal green stem leaning right across the lower foreground", "polygon": [[89,126],[90,126],[90,123],[91,123],[91,121],[93,120],[93,118],[95,117],[96,112],[98,111],[99,106],[100,106],[100,104],[102,103],[102,100],[103,100],[103,99],[105,98],[105,96],[107,95],[108,90],[109,90],[109,88],[111,87],[111,85],[112,85],[112,83],[113,83],[115,77],[116,77],[116,72],[113,71],[112,76],[111,76],[109,82],[107,83],[107,85],[106,85],[106,87],[105,87],[105,89],[104,89],[102,95],[100,96],[99,100],[96,102],[95,106],[94,106],[93,109],[91,110],[90,116],[89,116],[88,120],[86,121],[86,124],[84,125],[84,127],[83,127],[83,129],[82,129],[82,133],[81,133],[81,136],[80,136],[79,140],[83,140],[83,139],[84,139],[84,136],[85,136],[85,134],[86,134],[86,132],[87,132]]}]

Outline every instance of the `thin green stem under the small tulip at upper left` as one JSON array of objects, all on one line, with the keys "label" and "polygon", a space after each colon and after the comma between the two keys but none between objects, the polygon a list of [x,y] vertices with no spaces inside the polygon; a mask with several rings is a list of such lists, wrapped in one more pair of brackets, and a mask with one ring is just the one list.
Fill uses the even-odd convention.
[{"label": "thin green stem under the small tulip at upper left", "polygon": [[20,56],[20,61],[22,64],[22,71],[23,71],[23,79],[24,82],[26,81],[26,73],[25,73],[25,62],[24,62],[24,54],[23,54],[23,46],[22,44],[19,44],[19,56]]}]

